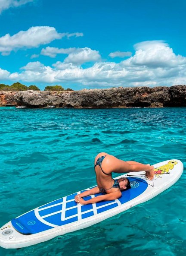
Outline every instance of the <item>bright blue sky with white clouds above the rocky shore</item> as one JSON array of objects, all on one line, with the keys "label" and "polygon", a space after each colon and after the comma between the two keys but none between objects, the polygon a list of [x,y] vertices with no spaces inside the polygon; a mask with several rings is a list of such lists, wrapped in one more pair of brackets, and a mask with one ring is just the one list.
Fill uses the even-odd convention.
[{"label": "bright blue sky with white clouds above the rocky shore", "polygon": [[185,9],[183,0],[0,0],[0,82],[184,84]]}]

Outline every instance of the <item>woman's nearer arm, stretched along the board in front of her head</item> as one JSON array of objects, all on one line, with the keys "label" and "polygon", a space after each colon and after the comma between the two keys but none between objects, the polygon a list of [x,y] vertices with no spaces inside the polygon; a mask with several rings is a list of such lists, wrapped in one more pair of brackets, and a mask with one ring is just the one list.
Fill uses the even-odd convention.
[{"label": "woman's nearer arm, stretched along the board in front of her head", "polygon": [[96,202],[100,202],[100,201],[111,201],[111,200],[115,200],[118,199],[119,197],[121,197],[121,191],[117,190],[115,192],[112,192],[110,194],[106,194],[106,195],[101,195],[101,196],[96,196],[91,198],[90,200],[84,200],[83,198],[79,198],[79,199],[75,199],[75,201],[81,205],[87,205],[87,204],[93,204]]}]

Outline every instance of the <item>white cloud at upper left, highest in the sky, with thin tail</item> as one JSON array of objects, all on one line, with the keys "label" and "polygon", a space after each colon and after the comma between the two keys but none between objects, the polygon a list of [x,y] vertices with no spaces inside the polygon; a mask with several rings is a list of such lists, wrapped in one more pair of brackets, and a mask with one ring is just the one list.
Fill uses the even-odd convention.
[{"label": "white cloud at upper left, highest in the sky, with thin tail", "polygon": [[18,49],[39,47],[41,44],[48,44],[55,39],[63,37],[82,36],[82,33],[58,33],[56,28],[49,26],[31,27],[27,31],[20,31],[15,35],[6,34],[0,37],[0,52],[8,55],[11,51]]}]

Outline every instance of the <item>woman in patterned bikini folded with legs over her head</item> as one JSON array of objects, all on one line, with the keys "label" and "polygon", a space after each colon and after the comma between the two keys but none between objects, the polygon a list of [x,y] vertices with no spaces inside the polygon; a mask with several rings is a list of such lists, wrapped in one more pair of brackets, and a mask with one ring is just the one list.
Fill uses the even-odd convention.
[{"label": "woman in patterned bikini folded with legs over her head", "polygon": [[[154,166],[150,164],[140,164],[135,161],[123,161],[113,155],[105,152],[99,153],[94,161],[94,169],[96,172],[97,186],[91,190],[86,190],[83,193],[75,196],[75,201],[78,204],[87,205],[99,201],[110,201],[121,197],[121,191],[130,188],[130,182],[127,178],[114,180],[112,172],[126,173],[133,171],[146,171],[146,177],[152,180],[154,177]],[[97,193],[103,195],[93,197],[90,200],[84,200],[82,197],[95,195]]]}]

